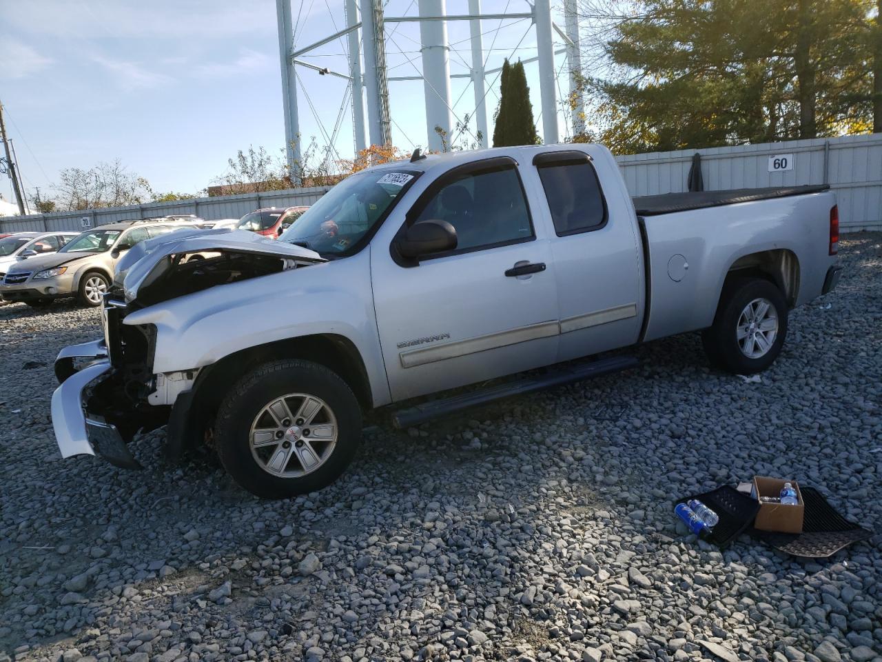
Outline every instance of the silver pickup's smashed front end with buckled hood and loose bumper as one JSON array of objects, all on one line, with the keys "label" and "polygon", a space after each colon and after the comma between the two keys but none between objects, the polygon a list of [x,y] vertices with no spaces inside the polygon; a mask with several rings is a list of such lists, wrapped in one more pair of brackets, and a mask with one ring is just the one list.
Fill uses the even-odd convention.
[{"label": "silver pickup's smashed front end with buckled hood and loose bumper", "polygon": [[[191,401],[198,370],[154,374],[157,328],[125,324],[131,312],[320,261],[299,246],[229,230],[183,230],[131,248],[104,297],[104,338],[65,348],[56,358],[60,386],[52,395],[52,424],[61,455],[99,455],[140,469],[128,448],[135,435],[186,416],[181,403]],[[181,440],[170,442],[181,448]]]}]

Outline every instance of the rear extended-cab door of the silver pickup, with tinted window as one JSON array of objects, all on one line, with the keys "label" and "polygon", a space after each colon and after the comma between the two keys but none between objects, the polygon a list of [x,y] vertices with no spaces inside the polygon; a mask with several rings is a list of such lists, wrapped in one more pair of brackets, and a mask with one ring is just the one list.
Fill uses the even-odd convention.
[{"label": "rear extended-cab door of the silver pickup, with tinted window", "polygon": [[[637,342],[643,316],[643,263],[633,208],[608,153],[599,163],[579,150],[536,154],[560,316],[560,361]],[[604,185],[605,184],[605,185]],[[608,192],[605,194],[605,192]]]}]

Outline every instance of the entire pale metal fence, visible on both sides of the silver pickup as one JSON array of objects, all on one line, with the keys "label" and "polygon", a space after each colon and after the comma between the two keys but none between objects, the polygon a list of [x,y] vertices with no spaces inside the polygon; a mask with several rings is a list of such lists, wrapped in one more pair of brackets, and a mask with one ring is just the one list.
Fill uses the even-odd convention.
[{"label": "entire pale metal fence, visible on both sides of the silver pickup", "polygon": [[[839,200],[843,232],[882,229],[882,133],[628,154],[618,156],[617,162],[632,195],[683,192],[692,155],[696,151],[701,154],[701,171],[707,191],[830,184]],[[239,218],[259,207],[311,205],[327,190],[327,187],[289,189],[153,202],[134,207],[3,217],[0,218],[0,232],[79,230],[101,223],[166,214],[196,214],[208,220]]]}]

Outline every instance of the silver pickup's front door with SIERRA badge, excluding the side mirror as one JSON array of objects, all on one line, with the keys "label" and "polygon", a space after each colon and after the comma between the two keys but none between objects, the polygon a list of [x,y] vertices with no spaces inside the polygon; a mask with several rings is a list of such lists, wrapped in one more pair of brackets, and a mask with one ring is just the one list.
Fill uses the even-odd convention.
[{"label": "silver pickup's front door with SIERRA badge, excluding the side mirror", "polygon": [[518,164],[496,157],[448,170],[386,223],[402,233],[426,220],[450,222],[456,250],[408,263],[397,255],[391,233],[371,242],[377,327],[393,400],[554,362],[554,268],[532,214]]}]

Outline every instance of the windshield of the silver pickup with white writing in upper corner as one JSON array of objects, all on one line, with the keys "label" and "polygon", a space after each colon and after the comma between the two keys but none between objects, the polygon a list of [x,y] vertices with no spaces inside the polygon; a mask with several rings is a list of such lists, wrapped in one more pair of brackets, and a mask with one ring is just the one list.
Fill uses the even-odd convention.
[{"label": "windshield of the silver pickup with white writing in upper corner", "polygon": [[295,219],[279,240],[329,255],[347,253],[385,218],[418,175],[384,169],[347,177]]}]

